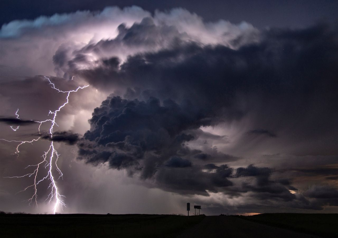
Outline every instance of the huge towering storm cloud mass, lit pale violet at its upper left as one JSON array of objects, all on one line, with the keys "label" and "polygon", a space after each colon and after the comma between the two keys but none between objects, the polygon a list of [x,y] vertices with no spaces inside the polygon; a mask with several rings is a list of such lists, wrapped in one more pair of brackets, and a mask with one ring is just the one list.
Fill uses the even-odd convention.
[{"label": "huge towering storm cloud mass, lit pale violet at its upper left", "polygon": [[10,22],[0,37],[10,66],[1,66],[3,114],[19,105],[41,120],[65,103],[35,74],[54,75],[61,90],[90,85],[59,112],[59,132],[42,133],[76,145],[78,163],[209,208],[337,205],[338,31],[329,24],[259,30],[181,8],[108,7]]}]

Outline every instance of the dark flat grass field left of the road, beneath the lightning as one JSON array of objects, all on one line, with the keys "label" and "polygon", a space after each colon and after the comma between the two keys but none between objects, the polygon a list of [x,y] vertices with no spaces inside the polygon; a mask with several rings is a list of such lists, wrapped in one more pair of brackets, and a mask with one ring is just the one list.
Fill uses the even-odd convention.
[{"label": "dark flat grass field left of the road, beneath the lightning", "polygon": [[3,214],[0,237],[176,237],[205,216]]}]

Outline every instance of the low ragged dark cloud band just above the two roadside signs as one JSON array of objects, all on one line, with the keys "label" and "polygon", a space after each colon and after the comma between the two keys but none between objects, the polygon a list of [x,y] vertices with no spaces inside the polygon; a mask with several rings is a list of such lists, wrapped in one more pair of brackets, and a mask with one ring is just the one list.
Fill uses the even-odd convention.
[{"label": "low ragged dark cloud band just above the two roadside signs", "polygon": [[[224,164],[207,164],[203,167],[159,168],[155,178],[160,188],[180,194],[209,196],[208,192],[220,192],[230,197],[248,196],[258,203],[269,201],[275,207],[277,201],[296,202],[298,195],[289,190],[297,189],[290,185],[290,180],[271,179],[271,173],[270,168],[253,165],[235,170]],[[304,201],[308,202],[306,198]],[[304,201],[298,202],[304,205]]]}]

